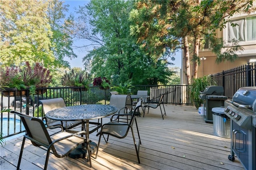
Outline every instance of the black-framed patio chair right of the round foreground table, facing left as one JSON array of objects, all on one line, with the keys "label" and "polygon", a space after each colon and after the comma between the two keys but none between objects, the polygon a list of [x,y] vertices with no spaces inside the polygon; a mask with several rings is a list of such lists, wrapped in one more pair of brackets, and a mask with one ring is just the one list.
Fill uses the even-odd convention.
[{"label": "black-framed patio chair right of the round foreground table, facing left", "polygon": [[[113,137],[117,137],[119,139],[123,139],[128,135],[129,130],[131,130],[133,141],[134,141],[134,146],[135,146],[135,150],[136,150],[136,154],[137,154],[137,158],[138,158],[138,163],[140,163],[139,152],[140,152],[141,141],[140,141],[140,133],[139,133],[139,129],[138,129],[138,124],[136,121],[136,116],[134,115],[134,113],[136,111],[138,111],[139,107],[141,107],[141,101],[139,101],[137,103],[132,114],[124,114],[125,116],[127,116],[127,115],[129,116],[129,119],[130,119],[129,123],[126,123],[126,121],[120,122],[120,120],[118,120],[118,119],[117,119],[118,121],[114,121],[114,120],[116,120],[116,119],[114,119],[115,116],[118,116],[118,117],[121,116],[121,114],[115,114],[115,115],[112,115],[112,119],[110,122],[102,125],[101,131],[96,135],[96,136],[100,135],[100,137],[99,137],[99,142],[98,142],[98,147],[97,147],[97,152],[96,152],[95,158],[97,158],[97,156],[98,156],[101,136],[103,136],[105,142],[108,143],[109,135],[111,135]],[[136,140],[135,140],[134,131],[133,131],[134,121],[136,123],[136,128],[137,128],[137,133],[138,133],[138,138],[139,138],[138,148],[136,145]],[[108,135],[107,139],[105,139],[104,134]]]}]

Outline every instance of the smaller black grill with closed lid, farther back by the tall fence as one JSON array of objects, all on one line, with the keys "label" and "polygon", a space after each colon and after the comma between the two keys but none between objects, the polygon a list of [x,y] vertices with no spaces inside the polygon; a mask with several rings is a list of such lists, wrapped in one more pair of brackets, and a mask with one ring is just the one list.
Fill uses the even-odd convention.
[{"label": "smaller black grill with closed lid, farther back by the tall fence", "polygon": [[200,91],[199,98],[201,100],[204,100],[204,108],[206,108],[206,112],[204,113],[205,122],[213,122],[213,107],[224,106],[224,102],[227,99],[227,97],[223,96],[223,94],[223,86],[206,86],[204,90]]}]

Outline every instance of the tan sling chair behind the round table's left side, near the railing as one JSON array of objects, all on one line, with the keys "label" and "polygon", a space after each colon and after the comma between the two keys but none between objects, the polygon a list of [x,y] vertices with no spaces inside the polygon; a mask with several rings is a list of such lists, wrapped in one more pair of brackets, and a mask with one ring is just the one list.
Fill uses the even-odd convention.
[{"label": "tan sling chair behind the round table's left side, near the railing", "polygon": [[[44,112],[44,115],[53,109],[58,109],[61,107],[66,107],[66,104],[62,98],[54,98],[54,99],[46,99],[46,100],[39,100],[39,104],[42,104],[42,109]],[[62,125],[64,130],[72,129],[78,125],[82,124],[82,121],[56,121],[48,119],[47,117],[42,117],[42,120],[46,121],[47,126],[53,126],[53,125]]]}]

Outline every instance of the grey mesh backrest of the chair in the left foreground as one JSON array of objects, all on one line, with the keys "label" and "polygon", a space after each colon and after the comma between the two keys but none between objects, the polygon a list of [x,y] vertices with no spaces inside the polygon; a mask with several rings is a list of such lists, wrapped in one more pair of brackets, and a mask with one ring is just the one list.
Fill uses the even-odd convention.
[{"label": "grey mesh backrest of the chair in the left foreground", "polygon": [[25,115],[18,111],[11,111],[11,113],[20,116],[20,119],[26,129],[26,135],[31,138],[30,140],[33,145],[48,147],[52,143],[42,119]]}]

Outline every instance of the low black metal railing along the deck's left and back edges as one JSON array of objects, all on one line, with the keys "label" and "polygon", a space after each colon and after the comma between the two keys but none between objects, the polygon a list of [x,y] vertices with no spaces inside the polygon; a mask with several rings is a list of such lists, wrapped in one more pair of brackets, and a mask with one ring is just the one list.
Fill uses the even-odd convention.
[{"label": "low black metal railing along the deck's left and back edges", "polygon": [[[134,86],[131,94],[136,94],[138,90],[148,90],[150,99],[156,99],[160,94],[166,93],[164,102],[175,105],[192,105],[186,100],[186,85],[171,86]],[[79,87],[50,87],[36,90],[36,94],[31,95],[29,90],[17,91],[14,88],[1,90],[1,111],[4,108],[20,111],[34,117],[43,117],[42,107],[39,100],[51,98],[63,98],[66,106],[81,104],[109,104],[110,91],[115,88],[101,89],[99,86],[90,86],[88,89]],[[20,119],[9,112],[1,112],[0,131],[3,138],[16,135],[24,131]]]}]

